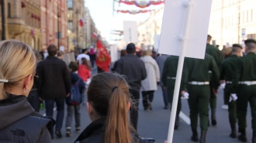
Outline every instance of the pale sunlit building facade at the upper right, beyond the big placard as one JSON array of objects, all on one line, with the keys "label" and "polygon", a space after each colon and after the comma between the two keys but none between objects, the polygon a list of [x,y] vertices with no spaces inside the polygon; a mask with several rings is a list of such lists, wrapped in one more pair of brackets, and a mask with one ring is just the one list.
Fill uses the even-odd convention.
[{"label": "pale sunlit building facade at the upper right, beyond the big placard", "polygon": [[255,0],[213,0],[209,34],[213,45],[244,44],[245,39],[256,39]]}]

